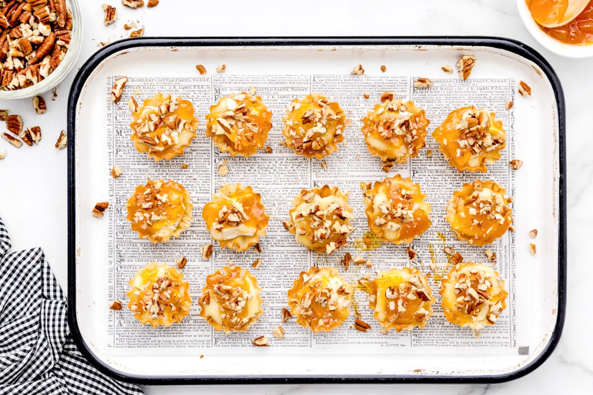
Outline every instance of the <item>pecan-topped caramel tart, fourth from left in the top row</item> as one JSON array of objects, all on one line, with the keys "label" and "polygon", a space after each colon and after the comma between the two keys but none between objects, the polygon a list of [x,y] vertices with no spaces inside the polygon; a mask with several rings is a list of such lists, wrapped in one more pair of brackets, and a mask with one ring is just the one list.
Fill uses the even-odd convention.
[{"label": "pecan-topped caramel tart, fourth from left in the top row", "polygon": [[429,123],[424,110],[412,101],[394,99],[390,94],[362,118],[361,130],[369,152],[381,158],[383,170],[388,172],[396,160],[403,163],[418,155],[425,146]]}]

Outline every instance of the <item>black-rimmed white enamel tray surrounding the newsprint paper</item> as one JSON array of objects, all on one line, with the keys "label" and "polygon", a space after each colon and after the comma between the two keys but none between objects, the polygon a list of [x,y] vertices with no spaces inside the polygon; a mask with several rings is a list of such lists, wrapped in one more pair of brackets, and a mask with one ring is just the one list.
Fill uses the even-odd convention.
[{"label": "black-rimmed white enamel tray surrounding the newsprint paper", "polygon": [[[458,79],[456,73],[448,75],[442,72],[441,66],[454,67],[457,59],[463,54],[473,54],[477,58],[476,67],[468,79],[468,84],[476,85],[476,89],[479,89],[480,81],[483,79],[497,79],[499,83],[508,82],[509,95],[515,98],[515,105],[511,113],[504,108],[506,99],[500,101],[497,114],[500,113],[502,116],[505,127],[514,130],[514,141],[509,142],[509,153],[506,153],[503,159],[508,162],[509,159],[517,158],[525,162],[517,172],[505,170],[509,179],[514,179],[516,186],[513,210],[517,228],[514,235],[505,236],[510,244],[508,248],[502,249],[508,254],[506,259],[511,262],[511,269],[501,273],[506,278],[507,290],[511,296],[509,311],[505,313],[507,318],[497,325],[509,325],[509,330],[514,334],[509,341],[503,342],[506,346],[500,346],[502,343],[497,343],[495,338],[492,338],[492,341],[497,346],[484,346],[484,339],[489,339],[487,336],[492,332],[484,332],[486,338],[482,340],[473,337],[464,340],[466,345],[471,344],[471,341],[480,345],[475,349],[471,346],[463,349],[452,345],[439,346],[438,342],[431,342],[431,339],[426,338],[426,333],[430,332],[417,332],[417,329],[412,334],[392,336],[412,336],[410,342],[420,342],[415,343],[420,346],[397,347],[392,343],[377,346],[372,342],[381,336],[378,333],[379,326],[367,315],[366,322],[374,326],[375,332],[372,336],[365,338],[364,335],[367,334],[361,334],[358,344],[346,344],[339,348],[328,346],[326,351],[312,348],[309,352],[307,348],[302,347],[298,349],[272,346],[258,348],[254,353],[250,342],[241,341],[237,346],[225,347],[224,350],[200,347],[180,350],[171,348],[166,338],[163,338],[162,345],[156,341],[152,345],[127,349],[125,352],[113,348],[112,339],[108,339],[107,336],[107,322],[113,317],[110,314],[115,312],[107,309],[107,301],[114,294],[123,292],[125,295],[126,290],[113,290],[107,287],[107,239],[110,232],[114,232],[114,229],[110,229],[108,216],[111,215],[109,210],[125,207],[127,196],[123,197],[123,203],[110,202],[104,219],[98,220],[90,214],[97,201],[106,199],[109,183],[113,182],[108,172],[110,157],[106,143],[106,126],[110,122],[111,114],[109,106],[112,105],[107,101],[110,78],[121,75],[130,78],[196,78],[199,76],[195,69],[197,63],[206,66],[209,70],[207,76],[216,76],[214,70],[222,63],[227,65],[227,76],[233,73],[349,75],[353,66],[360,63],[366,69],[365,75],[384,76],[385,81],[389,76],[402,75],[409,76],[410,81],[420,76],[440,81],[444,78]],[[387,66],[384,74],[381,73],[380,65]],[[530,98],[522,98],[517,94],[519,80],[528,81],[533,92]],[[377,82],[377,79],[373,81]],[[369,86],[368,90],[391,90],[387,89],[387,86],[381,86],[380,82],[378,85]],[[348,86],[344,86],[343,89],[347,95]],[[308,92],[303,92],[303,95],[306,93]],[[397,89],[396,93],[404,97],[407,95],[406,92],[397,92]],[[356,94],[362,96],[362,89]],[[485,95],[484,100],[490,99],[489,94]],[[455,99],[458,98],[451,99],[451,105],[456,102]],[[211,97],[207,100],[211,101]],[[429,97],[425,97],[425,100],[428,103]],[[470,104],[472,103],[466,105]],[[126,107],[126,102],[122,99],[120,105]],[[371,108],[372,105],[374,101],[371,99],[368,107]],[[495,382],[520,377],[538,367],[550,355],[559,339],[564,320],[566,207],[563,106],[562,88],[546,60],[521,43],[501,38],[138,38],[106,46],[95,53],[79,71],[71,88],[68,105],[68,297],[69,324],[74,339],[83,354],[100,370],[113,377],[143,384]],[[343,107],[347,110],[347,105]],[[439,117],[442,118],[454,108],[440,109]],[[282,114],[275,113],[275,118],[279,119],[280,115]],[[431,118],[428,110],[427,115]],[[435,119],[441,119],[439,117]],[[203,133],[203,115],[199,120],[198,133]],[[509,120],[513,123],[508,124]],[[356,131],[356,121],[358,119],[355,119],[355,126],[349,131],[352,136],[359,133],[359,130]],[[430,136],[433,128],[439,123],[440,121],[433,121],[429,127],[426,149],[432,149],[433,155],[441,155],[437,144]],[[272,133],[275,133],[276,137],[282,129],[280,125],[280,122],[275,123]],[[123,130],[124,135],[128,133],[129,131]],[[273,158],[290,155],[280,149],[276,140],[275,144]],[[347,144],[346,147],[340,147],[339,152],[347,153],[347,147]],[[419,157],[412,160],[428,160],[426,149],[420,154],[423,159]],[[215,153],[211,152],[208,155]],[[273,158],[269,160],[274,160]],[[340,156],[336,155],[335,158]],[[370,165],[378,167],[378,162],[371,156],[368,156],[368,159],[364,158],[361,163],[364,164],[364,160],[368,160]],[[234,160],[240,163],[243,158]],[[334,179],[339,179],[344,185],[349,185],[351,174],[358,166],[352,160],[328,160]],[[183,160],[175,163],[178,171],[178,164],[183,163]],[[231,167],[231,172],[232,169]],[[318,170],[315,168],[315,171]],[[169,175],[167,171],[166,164],[160,163],[158,168],[155,165],[154,169],[148,169],[146,172],[158,174],[166,179]],[[396,172],[397,169],[392,170],[390,176]],[[366,181],[375,181],[385,176],[387,175],[379,170],[373,179]],[[473,176],[476,174],[462,175],[460,178],[451,176],[451,179],[447,180],[447,173],[435,172],[434,182],[440,182],[448,188],[449,181],[458,186],[460,181],[471,180]],[[144,180],[144,175],[141,178]],[[266,186],[260,187],[265,190]],[[439,187],[433,185],[428,188]],[[195,191],[190,192],[193,195]],[[206,195],[211,192],[206,191]],[[350,195],[359,192],[350,190]],[[199,214],[200,211],[194,211],[195,219]],[[433,210],[433,222],[441,214],[438,210]],[[282,219],[280,217],[273,220],[278,222]],[[364,227],[364,224],[361,222],[359,227]],[[535,239],[535,256],[531,256],[529,252],[529,243],[534,240],[528,237],[528,233],[533,228],[539,230]],[[278,227],[274,229],[280,232]],[[274,229],[269,230],[270,237],[274,237]],[[199,232],[200,229],[196,228],[196,234]],[[454,239],[448,237],[448,244],[454,242]],[[426,245],[422,243],[420,239],[419,246],[425,249]],[[146,248],[151,248],[151,245],[148,243]],[[441,244],[435,244],[431,248],[442,251]],[[270,249],[273,249],[273,246]],[[401,259],[397,254],[405,249],[406,246],[385,246],[381,253],[393,252],[394,259]],[[215,253],[216,251],[220,252],[215,248]],[[375,252],[370,252],[371,255],[373,253]],[[331,256],[329,265],[338,265],[336,259],[339,261],[340,257],[337,255]],[[171,256],[168,262],[174,263],[176,258],[177,256]],[[324,259],[318,260],[318,263],[325,264]],[[377,262],[379,261],[380,259]],[[274,262],[273,258],[267,258],[265,262],[268,266],[282,264]],[[375,267],[381,268],[379,263]],[[373,270],[370,269],[371,272]],[[427,266],[422,271],[430,270]],[[349,273],[352,278],[352,271]],[[281,270],[277,271],[277,275],[279,278],[294,276],[292,272],[285,274]],[[195,290],[201,287],[201,283],[197,284]],[[263,288],[265,292],[265,281]],[[438,290],[433,294],[436,296]],[[198,297],[199,293],[192,294],[196,305]],[[127,300],[123,302],[127,304]],[[436,304],[439,303],[440,298],[437,298]],[[361,306],[358,309],[361,312],[368,310],[362,303],[359,305]],[[278,306],[275,308],[278,309]],[[126,314],[126,311],[122,310],[118,314]],[[368,314],[368,311],[365,314]],[[199,322],[200,317],[197,315],[194,314],[190,318]],[[458,329],[444,322],[442,316],[439,320],[436,315],[438,314],[435,313],[435,322],[449,325],[451,330]],[[511,320],[509,316],[514,318]],[[349,321],[340,330],[348,330],[347,326],[351,325],[352,321],[353,314],[350,314]],[[252,327],[252,332],[247,337],[252,339],[260,336],[264,334],[262,330]],[[142,336],[145,331],[145,328],[138,330],[138,336]],[[265,334],[271,337],[269,331]],[[425,336],[424,340],[422,336]],[[368,339],[374,340],[371,342]],[[422,343],[423,341],[426,343]]]}]

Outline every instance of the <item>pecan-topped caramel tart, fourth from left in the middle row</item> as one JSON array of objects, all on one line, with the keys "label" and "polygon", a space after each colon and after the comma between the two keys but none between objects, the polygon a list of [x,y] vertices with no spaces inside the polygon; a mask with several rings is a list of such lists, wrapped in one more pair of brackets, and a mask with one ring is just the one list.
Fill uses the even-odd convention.
[{"label": "pecan-topped caramel tart, fourth from left in the middle row", "polygon": [[396,174],[364,190],[369,228],[387,242],[410,243],[431,226],[431,204],[410,178]]}]

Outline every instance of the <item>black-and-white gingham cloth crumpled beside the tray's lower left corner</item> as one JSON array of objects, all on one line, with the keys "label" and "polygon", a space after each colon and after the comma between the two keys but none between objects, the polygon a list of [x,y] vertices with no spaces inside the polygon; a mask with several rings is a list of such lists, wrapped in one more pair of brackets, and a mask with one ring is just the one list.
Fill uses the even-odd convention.
[{"label": "black-and-white gingham cloth crumpled beside the tray's lower left corner", "polygon": [[41,248],[7,253],[0,219],[0,394],[139,395],[98,372],[68,330],[66,299]]}]

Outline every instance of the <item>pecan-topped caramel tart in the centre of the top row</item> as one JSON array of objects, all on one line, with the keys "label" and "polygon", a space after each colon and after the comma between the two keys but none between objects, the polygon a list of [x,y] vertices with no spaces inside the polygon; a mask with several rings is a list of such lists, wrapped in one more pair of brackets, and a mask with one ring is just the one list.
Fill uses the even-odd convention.
[{"label": "pecan-topped caramel tart in the centre of the top row", "polygon": [[318,93],[293,99],[282,122],[286,145],[307,158],[330,155],[344,140],[346,114],[337,102]]}]

